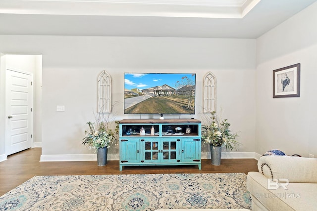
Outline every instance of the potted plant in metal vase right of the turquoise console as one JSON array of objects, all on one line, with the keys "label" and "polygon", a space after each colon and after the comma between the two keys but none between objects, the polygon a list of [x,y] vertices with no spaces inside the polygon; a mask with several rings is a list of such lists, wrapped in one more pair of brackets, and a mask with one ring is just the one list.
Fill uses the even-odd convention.
[{"label": "potted plant in metal vase right of the turquoise console", "polygon": [[230,123],[227,119],[219,121],[216,112],[211,112],[211,117],[207,119],[206,124],[202,125],[202,139],[210,144],[212,165],[220,165],[222,147],[233,150],[240,145],[236,140],[237,136],[237,133],[230,131]]}]

